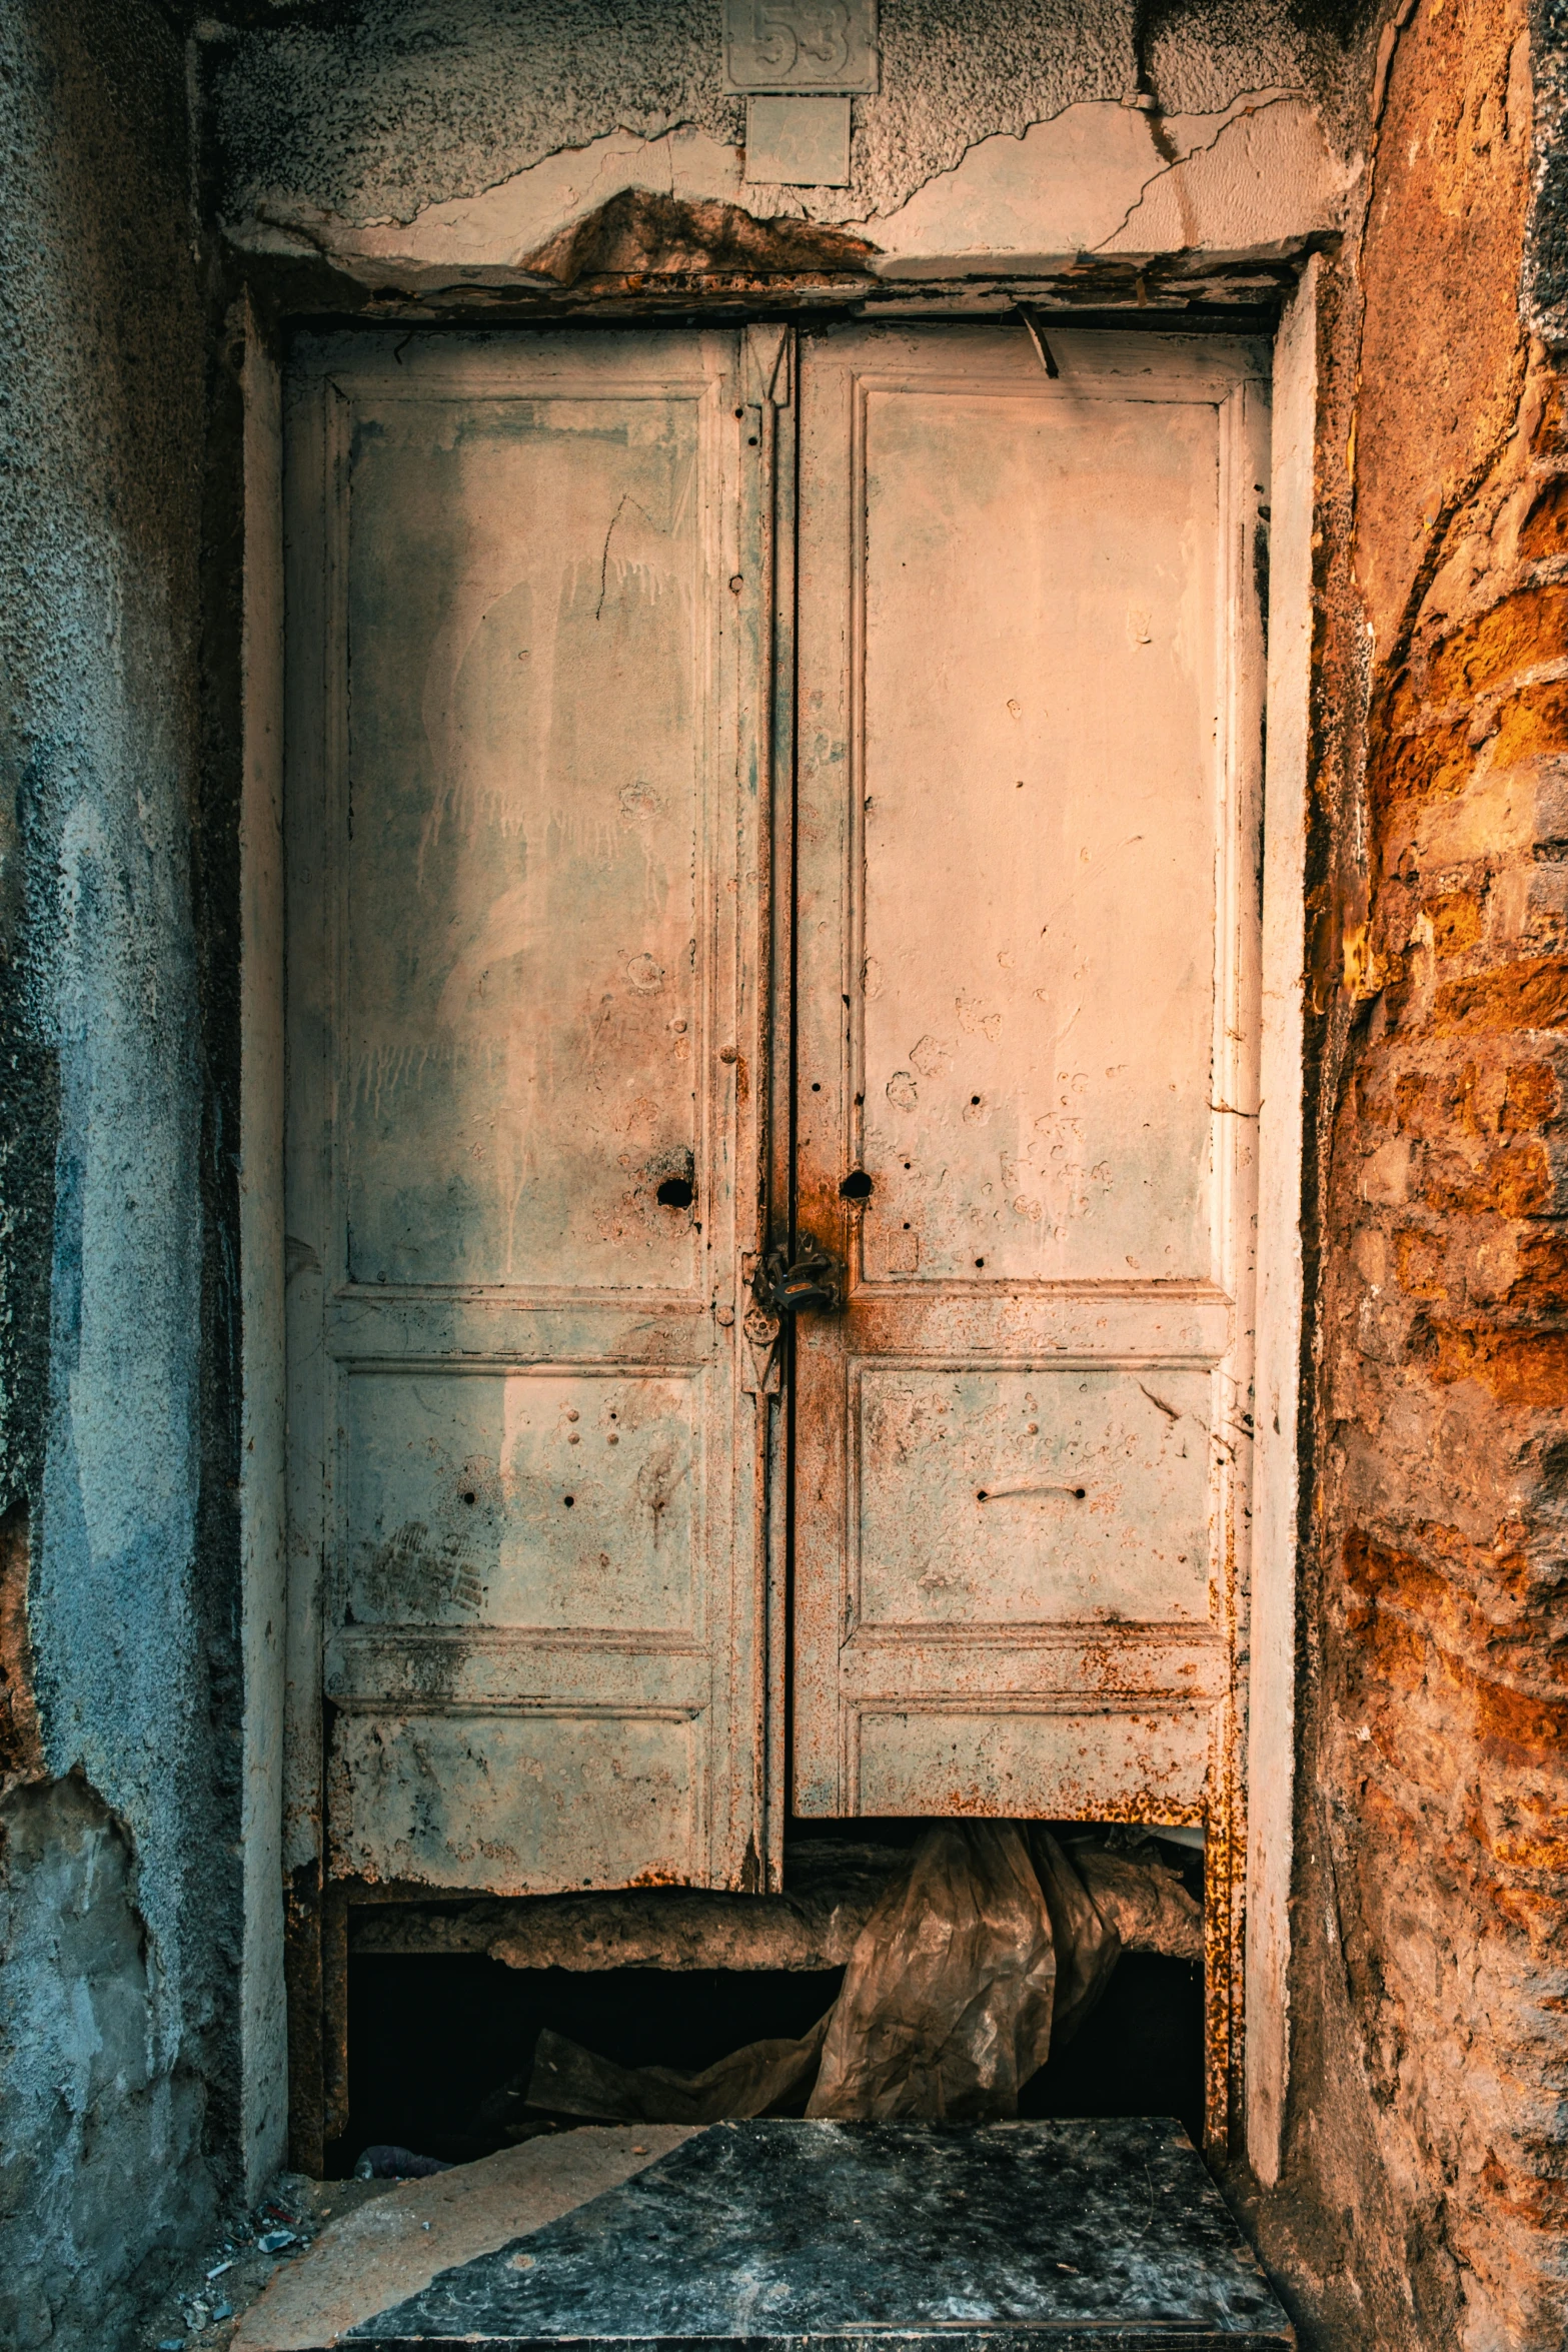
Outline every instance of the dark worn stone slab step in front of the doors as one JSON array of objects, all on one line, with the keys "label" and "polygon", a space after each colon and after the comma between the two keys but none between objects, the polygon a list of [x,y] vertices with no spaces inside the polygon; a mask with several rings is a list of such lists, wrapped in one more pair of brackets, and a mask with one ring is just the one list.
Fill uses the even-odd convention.
[{"label": "dark worn stone slab step in front of the doors", "polygon": [[[712,2124],[456,2263],[348,2352],[1284,2352],[1295,2343],[1180,2124]],[[644,2154],[644,2147],[637,2150]]]}]

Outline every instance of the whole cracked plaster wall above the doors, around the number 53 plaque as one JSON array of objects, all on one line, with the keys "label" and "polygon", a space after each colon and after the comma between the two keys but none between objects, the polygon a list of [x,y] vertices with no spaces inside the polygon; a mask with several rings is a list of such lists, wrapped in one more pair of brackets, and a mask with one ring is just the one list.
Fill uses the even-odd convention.
[{"label": "whole cracked plaster wall above the doors, around the number 53 plaque", "polygon": [[849,188],[743,181],[712,5],[463,0],[214,26],[207,127],[242,247],[320,249],[371,282],[527,270],[632,186],[856,226],[893,278],[1288,249],[1338,226],[1354,172],[1356,82],[1324,14],[884,0]]}]

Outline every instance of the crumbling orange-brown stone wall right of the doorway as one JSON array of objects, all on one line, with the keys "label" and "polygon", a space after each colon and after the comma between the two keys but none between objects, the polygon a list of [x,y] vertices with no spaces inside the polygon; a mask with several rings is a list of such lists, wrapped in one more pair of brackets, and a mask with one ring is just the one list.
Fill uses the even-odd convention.
[{"label": "crumbling orange-brown stone wall right of the doorway", "polygon": [[1568,437],[1521,327],[1526,9],[1399,16],[1324,332],[1295,2056],[1258,2223],[1309,2340],[1502,2352],[1568,2307]]}]

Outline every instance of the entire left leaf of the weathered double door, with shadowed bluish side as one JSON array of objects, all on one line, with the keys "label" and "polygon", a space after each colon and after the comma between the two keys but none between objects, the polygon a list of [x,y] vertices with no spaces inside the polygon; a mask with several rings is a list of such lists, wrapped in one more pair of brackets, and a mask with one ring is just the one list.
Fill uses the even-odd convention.
[{"label": "entire left leaf of the weathered double door, with shadowed bluish side", "polygon": [[292,379],[296,1884],[733,1886],[764,1842],[743,362]]}]

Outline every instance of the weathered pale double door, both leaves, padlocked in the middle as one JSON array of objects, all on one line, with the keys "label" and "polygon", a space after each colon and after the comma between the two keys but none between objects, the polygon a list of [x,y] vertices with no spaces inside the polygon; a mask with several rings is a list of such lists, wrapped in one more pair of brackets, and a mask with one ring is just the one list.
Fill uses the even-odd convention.
[{"label": "weathered pale double door, both leaves, padlocked in the middle", "polygon": [[296,1870],[1234,1832],[1260,355],[1053,353],[299,360]]}]

